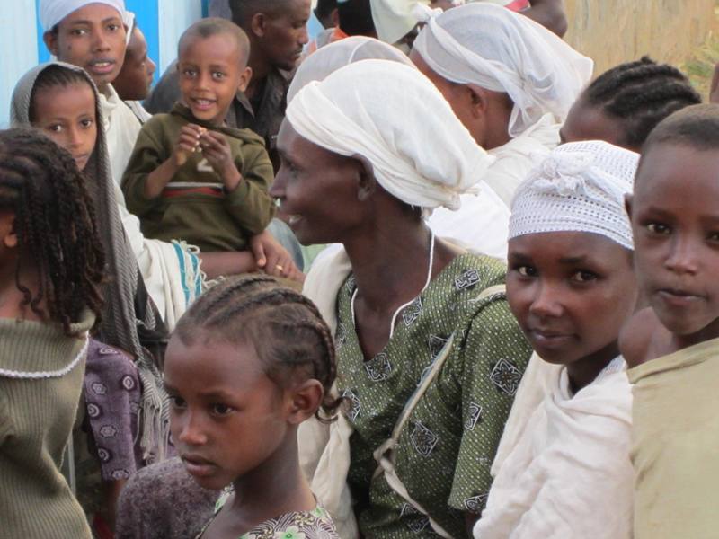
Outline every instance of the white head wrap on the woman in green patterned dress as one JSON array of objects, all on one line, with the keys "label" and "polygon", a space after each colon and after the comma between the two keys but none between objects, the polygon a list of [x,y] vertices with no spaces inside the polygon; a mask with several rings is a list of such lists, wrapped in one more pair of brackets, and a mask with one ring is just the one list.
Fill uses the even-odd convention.
[{"label": "white head wrap on the woman in green patterned dress", "polygon": [[434,84],[397,62],[362,60],[306,84],[287,119],[317,146],[362,155],[387,192],[422,208],[459,208],[493,162]]}]

